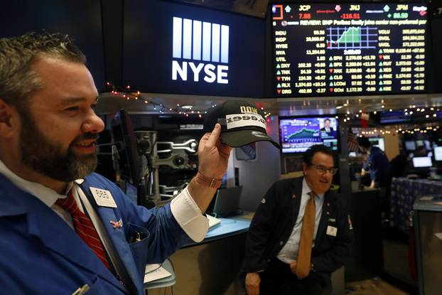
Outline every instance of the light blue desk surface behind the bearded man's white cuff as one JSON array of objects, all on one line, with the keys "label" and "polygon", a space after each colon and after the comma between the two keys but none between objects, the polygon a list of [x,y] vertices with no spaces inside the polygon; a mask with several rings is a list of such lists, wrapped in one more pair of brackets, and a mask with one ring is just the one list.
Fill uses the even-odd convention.
[{"label": "light blue desk surface behind the bearded man's white cuff", "polygon": [[250,222],[252,221],[250,213],[232,216],[230,218],[218,219],[221,220],[220,224],[210,228],[202,242],[192,242],[184,245],[183,247],[200,245],[213,240],[222,239],[223,237],[230,237],[232,235],[238,235],[242,232],[247,232],[249,230]]}]

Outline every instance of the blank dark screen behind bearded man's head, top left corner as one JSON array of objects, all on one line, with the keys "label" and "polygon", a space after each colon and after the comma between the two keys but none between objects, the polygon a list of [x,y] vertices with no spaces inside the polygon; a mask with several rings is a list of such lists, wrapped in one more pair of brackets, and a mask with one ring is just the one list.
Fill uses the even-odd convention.
[{"label": "blank dark screen behind bearded man's head, top left corner", "polygon": [[[20,21],[17,21],[17,19]],[[81,20],[81,21],[79,21]],[[12,25],[14,23],[14,25]],[[104,90],[102,6],[99,0],[8,1],[0,9],[0,38],[27,32],[71,36],[87,58],[98,90]]]}]

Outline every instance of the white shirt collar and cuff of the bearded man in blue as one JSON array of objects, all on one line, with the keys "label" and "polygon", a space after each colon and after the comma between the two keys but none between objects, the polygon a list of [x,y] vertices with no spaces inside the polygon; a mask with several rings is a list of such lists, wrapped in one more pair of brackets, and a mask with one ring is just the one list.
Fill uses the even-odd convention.
[{"label": "white shirt collar and cuff of the bearded man in blue", "polygon": [[[60,215],[65,222],[68,222],[72,229],[74,228],[70,213],[55,204],[55,201],[58,200],[58,198],[66,198],[66,195],[60,195],[52,188],[43,186],[41,183],[27,181],[26,179],[17,176],[8,167],[6,167],[2,161],[0,161],[0,173],[6,176],[9,181],[14,183],[21,190],[36,196],[36,198],[41,200],[43,203],[45,203],[45,205],[53,209],[55,213]],[[77,190],[81,189],[78,185],[81,184],[82,181],[82,179],[79,179],[75,181],[75,184],[68,183],[65,193],[68,193],[70,188],[74,186],[74,198],[77,201],[78,208],[80,208],[80,210],[84,213],[84,209],[77,193]],[[183,228],[184,232],[192,240],[195,242],[200,242],[204,239],[205,235],[207,234],[207,229],[209,228],[209,222],[201,213],[200,208],[190,196],[187,188],[183,189],[183,191],[181,191],[176,198],[173,198],[171,202],[171,211],[173,217],[176,219],[180,227]]]}]

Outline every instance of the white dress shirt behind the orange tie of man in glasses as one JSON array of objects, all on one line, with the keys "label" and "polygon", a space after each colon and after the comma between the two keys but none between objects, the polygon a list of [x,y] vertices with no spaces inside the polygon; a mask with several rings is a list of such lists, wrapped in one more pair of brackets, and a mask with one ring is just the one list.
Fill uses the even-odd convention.
[{"label": "white dress shirt behind the orange tie of man in glasses", "polygon": [[[310,199],[310,195],[308,193],[311,192],[311,189],[308,187],[306,178],[303,178],[302,181],[302,193],[301,193],[301,205],[299,207],[298,218],[296,218],[295,225],[293,226],[293,230],[291,231],[291,235],[289,240],[287,240],[284,247],[282,247],[281,251],[276,255],[276,257],[281,260],[281,262],[285,262],[287,264],[298,259],[298,249],[299,249],[299,240],[301,240],[301,229],[302,229],[302,219],[304,217],[304,213],[306,212],[306,205],[308,200]],[[324,203],[324,194],[320,193],[315,197],[315,232],[313,232],[313,245],[315,246],[316,233],[318,232],[318,225],[320,220],[320,215],[323,213],[323,203]]]}]

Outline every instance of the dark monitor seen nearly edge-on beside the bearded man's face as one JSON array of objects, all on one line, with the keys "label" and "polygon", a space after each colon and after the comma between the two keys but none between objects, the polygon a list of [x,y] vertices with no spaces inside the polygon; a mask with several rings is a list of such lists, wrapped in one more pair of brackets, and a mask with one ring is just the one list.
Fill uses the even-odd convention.
[{"label": "dark monitor seen nearly edge-on beside the bearded man's face", "polygon": [[124,109],[120,109],[112,120],[112,138],[118,149],[121,178],[138,186],[141,178],[141,161],[134,127],[129,114]]}]

